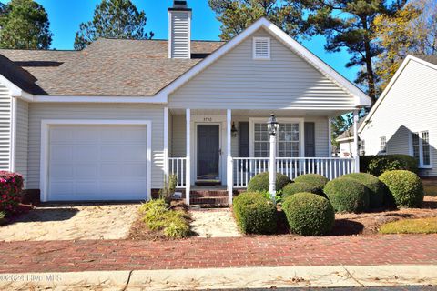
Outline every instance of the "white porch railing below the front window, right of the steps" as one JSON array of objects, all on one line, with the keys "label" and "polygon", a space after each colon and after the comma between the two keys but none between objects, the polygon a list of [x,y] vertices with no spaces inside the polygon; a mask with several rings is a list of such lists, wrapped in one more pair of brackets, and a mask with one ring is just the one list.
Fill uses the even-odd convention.
[{"label": "white porch railing below the front window, right of the steps", "polygon": [[[269,158],[233,157],[234,187],[245,188],[249,180],[261,173],[269,171]],[[338,157],[278,157],[276,171],[289,176],[291,180],[304,174],[320,174],[330,180],[355,172],[353,158]]]}]

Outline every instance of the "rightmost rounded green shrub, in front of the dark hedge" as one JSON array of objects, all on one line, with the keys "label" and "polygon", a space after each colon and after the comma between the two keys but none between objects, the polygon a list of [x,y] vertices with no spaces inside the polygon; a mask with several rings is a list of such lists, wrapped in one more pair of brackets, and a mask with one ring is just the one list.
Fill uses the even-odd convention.
[{"label": "rightmost rounded green shrub, in front of the dark hedge", "polygon": [[398,207],[421,207],[423,203],[422,180],[410,171],[388,171],[380,176]]}]

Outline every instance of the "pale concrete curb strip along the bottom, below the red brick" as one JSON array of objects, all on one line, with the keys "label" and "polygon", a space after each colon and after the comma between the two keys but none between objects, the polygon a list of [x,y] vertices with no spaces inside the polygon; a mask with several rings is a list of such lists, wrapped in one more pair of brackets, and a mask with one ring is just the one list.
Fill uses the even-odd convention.
[{"label": "pale concrete curb strip along the bottom, below the red brick", "polygon": [[2,274],[3,290],[202,290],[437,286],[437,266],[278,266]]}]

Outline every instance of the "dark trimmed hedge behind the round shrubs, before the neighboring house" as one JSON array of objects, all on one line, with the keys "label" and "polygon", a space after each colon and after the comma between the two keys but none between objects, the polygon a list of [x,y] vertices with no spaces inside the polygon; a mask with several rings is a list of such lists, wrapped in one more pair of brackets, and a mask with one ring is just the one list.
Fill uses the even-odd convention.
[{"label": "dark trimmed hedge behind the round shrubs, before the neighboring house", "polygon": [[386,171],[406,170],[418,173],[417,160],[408,155],[361,156],[360,171],[381,176]]}]

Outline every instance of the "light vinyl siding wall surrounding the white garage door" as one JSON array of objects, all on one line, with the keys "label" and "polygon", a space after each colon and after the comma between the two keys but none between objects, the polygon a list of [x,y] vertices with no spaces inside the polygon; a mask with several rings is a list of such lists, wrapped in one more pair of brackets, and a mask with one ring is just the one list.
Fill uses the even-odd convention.
[{"label": "light vinyl siding wall surrounding the white garage door", "polygon": [[41,120],[106,119],[150,120],[152,122],[152,188],[161,188],[164,180],[164,109],[160,105],[120,104],[30,104],[29,105],[29,189],[39,188]]}]

